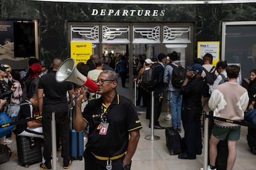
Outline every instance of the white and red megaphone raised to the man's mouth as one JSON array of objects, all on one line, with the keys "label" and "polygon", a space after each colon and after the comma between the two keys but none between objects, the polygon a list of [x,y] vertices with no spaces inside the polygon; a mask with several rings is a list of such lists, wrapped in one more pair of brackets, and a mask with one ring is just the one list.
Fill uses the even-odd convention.
[{"label": "white and red megaphone raised to the man's mouth", "polygon": [[98,91],[98,85],[92,81],[92,79],[87,78],[82,75],[77,68],[75,68],[75,60],[74,59],[66,59],[59,66],[56,73],[56,81],[58,83],[62,83],[64,81],[70,81],[79,86],[87,87],[89,92]]}]

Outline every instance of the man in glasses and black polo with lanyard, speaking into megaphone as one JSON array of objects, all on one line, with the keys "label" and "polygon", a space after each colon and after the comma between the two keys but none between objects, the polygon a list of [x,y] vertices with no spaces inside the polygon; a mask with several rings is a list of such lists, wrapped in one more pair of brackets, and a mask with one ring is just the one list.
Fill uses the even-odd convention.
[{"label": "man in glasses and black polo with lanyard, speaking into megaphone", "polygon": [[101,97],[90,100],[83,111],[85,93],[81,88],[74,91],[77,95],[74,129],[79,132],[90,125],[83,153],[86,170],[130,169],[142,124],[134,104],[117,94],[117,79],[114,71],[101,72],[96,80]]}]

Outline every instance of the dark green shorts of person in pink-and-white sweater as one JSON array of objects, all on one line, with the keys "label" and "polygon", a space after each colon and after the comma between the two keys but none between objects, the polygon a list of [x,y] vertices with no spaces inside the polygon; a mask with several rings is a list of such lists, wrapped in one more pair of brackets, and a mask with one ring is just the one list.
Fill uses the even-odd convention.
[{"label": "dark green shorts of person in pink-and-white sweater", "polygon": [[240,139],[240,132],[240,126],[229,127],[219,126],[217,124],[215,124],[215,126],[213,126],[213,129],[211,130],[213,136],[220,140],[238,140]]}]

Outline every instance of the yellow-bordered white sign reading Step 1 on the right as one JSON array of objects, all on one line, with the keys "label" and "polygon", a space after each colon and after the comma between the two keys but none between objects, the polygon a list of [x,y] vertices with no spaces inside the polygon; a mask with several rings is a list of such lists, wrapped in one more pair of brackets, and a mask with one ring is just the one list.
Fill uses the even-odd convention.
[{"label": "yellow-bordered white sign reading Step 1 on the right", "polygon": [[220,41],[198,41],[197,42],[197,58],[203,59],[205,54],[213,55],[213,65],[220,60]]}]

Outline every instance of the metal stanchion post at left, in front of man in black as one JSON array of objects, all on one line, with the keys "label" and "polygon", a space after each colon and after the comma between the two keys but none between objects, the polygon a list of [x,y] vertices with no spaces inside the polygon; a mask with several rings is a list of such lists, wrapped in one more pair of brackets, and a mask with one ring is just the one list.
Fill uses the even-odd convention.
[{"label": "metal stanchion post at left, in front of man in black", "polygon": [[51,113],[51,145],[53,150],[53,170],[57,170],[56,124],[54,111]]}]

